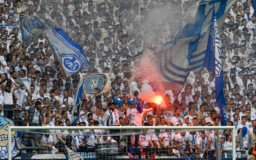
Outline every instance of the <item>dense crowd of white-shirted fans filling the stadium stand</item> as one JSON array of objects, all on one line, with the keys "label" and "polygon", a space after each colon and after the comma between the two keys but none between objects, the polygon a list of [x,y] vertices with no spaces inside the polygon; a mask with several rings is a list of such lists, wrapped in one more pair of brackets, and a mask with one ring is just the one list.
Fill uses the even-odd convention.
[{"label": "dense crowd of white-shirted fans filling the stadium stand", "polygon": [[[163,104],[141,100],[145,77],[136,74],[136,63],[143,54],[143,20],[155,7],[175,0],[1,0],[0,1],[0,114],[13,119],[13,111],[26,110],[23,126],[218,126],[220,109],[216,105],[215,77],[206,68],[191,71],[182,90],[165,91]],[[101,95],[81,96],[77,122],[70,121],[75,107],[79,74],[65,77],[61,63],[42,36],[23,47],[20,17],[38,16],[52,28],[61,28],[84,51],[91,67],[86,73],[107,73],[111,90]],[[4,26],[8,24],[7,26]],[[219,25],[221,26],[221,25]],[[251,0],[236,0],[219,28],[221,62],[224,67],[227,125],[236,126],[236,149],[250,150],[256,143],[256,16]],[[163,35],[166,36],[166,35]],[[152,51],[164,44],[162,37]],[[154,62],[154,60],[152,60]],[[15,83],[29,79],[30,90]],[[154,74],[152,73],[152,76]],[[8,79],[8,80],[6,80]],[[148,85],[148,84],[147,84]],[[120,94],[134,94],[128,106],[116,106]],[[136,106],[136,107],[135,107]],[[127,117],[125,117],[127,115]],[[14,117],[15,118],[15,117]],[[59,134],[22,133],[22,144],[48,147],[67,145],[74,151],[92,151],[89,146],[118,143],[119,146],[142,146],[144,151],[167,152],[175,146],[180,153],[204,153],[216,149],[216,137],[223,149],[232,148],[231,131],[191,131],[113,137],[116,130],[76,130]],[[83,132],[88,133],[83,136]],[[143,132],[151,132],[143,130]],[[66,134],[65,134],[66,133]],[[73,133],[73,134],[72,134]],[[96,136],[97,133],[104,136]],[[134,139],[133,141],[131,139]],[[133,143],[131,143],[133,142]],[[154,149],[154,151],[152,151]],[[94,150],[93,150],[94,151]],[[254,151],[252,150],[253,154]],[[247,156],[237,153],[237,157]],[[227,153],[229,154],[229,152]],[[151,156],[151,155],[148,155]]]}]

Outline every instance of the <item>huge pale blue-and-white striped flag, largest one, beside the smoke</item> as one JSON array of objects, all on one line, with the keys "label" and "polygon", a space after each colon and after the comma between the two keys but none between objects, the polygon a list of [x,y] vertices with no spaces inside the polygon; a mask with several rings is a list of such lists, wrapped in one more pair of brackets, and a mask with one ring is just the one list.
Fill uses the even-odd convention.
[{"label": "huge pale blue-and-white striped flag, largest one, beside the smoke", "polygon": [[199,0],[180,19],[171,37],[160,51],[160,73],[171,89],[182,89],[189,71],[203,66],[213,5],[216,19],[222,24],[235,0]]}]

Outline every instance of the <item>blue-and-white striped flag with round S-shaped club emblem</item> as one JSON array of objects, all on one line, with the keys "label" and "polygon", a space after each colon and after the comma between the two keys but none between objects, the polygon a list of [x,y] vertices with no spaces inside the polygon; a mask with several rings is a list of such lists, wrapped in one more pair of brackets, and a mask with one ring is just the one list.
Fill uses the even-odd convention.
[{"label": "blue-and-white striped flag with round S-shaped club emblem", "polygon": [[48,29],[44,33],[68,75],[78,74],[90,67],[81,46],[68,37],[64,31]]}]

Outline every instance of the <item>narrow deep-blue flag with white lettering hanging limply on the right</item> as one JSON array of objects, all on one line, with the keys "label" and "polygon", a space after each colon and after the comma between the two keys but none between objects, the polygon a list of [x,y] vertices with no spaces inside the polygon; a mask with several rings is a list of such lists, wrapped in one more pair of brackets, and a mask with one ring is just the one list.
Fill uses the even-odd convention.
[{"label": "narrow deep-blue flag with white lettering hanging limply on the right", "polygon": [[212,22],[209,31],[204,66],[215,74],[216,103],[221,112],[221,126],[227,126],[226,101],[224,97],[223,68],[221,64],[220,36],[218,34],[215,9],[212,10]]}]

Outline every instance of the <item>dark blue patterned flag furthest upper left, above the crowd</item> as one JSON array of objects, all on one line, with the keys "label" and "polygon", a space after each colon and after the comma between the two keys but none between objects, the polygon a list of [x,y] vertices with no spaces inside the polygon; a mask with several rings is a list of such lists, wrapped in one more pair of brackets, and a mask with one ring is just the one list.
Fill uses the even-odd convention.
[{"label": "dark blue patterned flag furthest upper left, above the crowd", "polygon": [[20,17],[20,31],[23,40],[23,47],[29,46],[41,37],[47,26],[38,17]]}]

